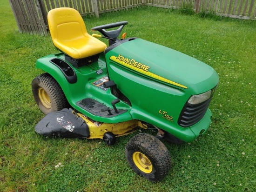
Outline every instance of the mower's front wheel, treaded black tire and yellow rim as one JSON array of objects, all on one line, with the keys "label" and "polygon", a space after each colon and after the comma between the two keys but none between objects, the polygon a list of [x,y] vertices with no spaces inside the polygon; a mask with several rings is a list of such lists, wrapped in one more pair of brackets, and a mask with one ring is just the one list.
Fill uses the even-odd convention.
[{"label": "mower's front wheel, treaded black tire and yellow rim", "polygon": [[125,156],[132,169],[140,176],[160,181],[171,167],[171,157],[164,144],[148,133],[140,133],[129,140]]}]

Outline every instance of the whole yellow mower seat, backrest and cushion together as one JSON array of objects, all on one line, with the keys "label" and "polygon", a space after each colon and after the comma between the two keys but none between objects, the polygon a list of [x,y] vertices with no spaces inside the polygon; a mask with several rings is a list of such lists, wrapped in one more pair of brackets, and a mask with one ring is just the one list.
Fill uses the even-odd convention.
[{"label": "whole yellow mower seat, backrest and cushion together", "polygon": [[104,52],[107,45],[87,33],[78,11],[62,7],[49,11],[48,25],[54,45],[74,59]]}]

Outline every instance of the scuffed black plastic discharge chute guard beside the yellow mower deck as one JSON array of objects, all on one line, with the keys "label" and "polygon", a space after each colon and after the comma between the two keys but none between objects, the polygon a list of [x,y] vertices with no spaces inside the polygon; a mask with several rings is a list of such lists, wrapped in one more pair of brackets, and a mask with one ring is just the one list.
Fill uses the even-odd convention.
[{"label": "scuffed black plastic discharge chute guard beside the yellow mower deck", "polygon": [[63,109],[48,113],[35,126],[35,132],[47,137],[88,138],[90,132],[88,125],[77,117],[72,109]]}]

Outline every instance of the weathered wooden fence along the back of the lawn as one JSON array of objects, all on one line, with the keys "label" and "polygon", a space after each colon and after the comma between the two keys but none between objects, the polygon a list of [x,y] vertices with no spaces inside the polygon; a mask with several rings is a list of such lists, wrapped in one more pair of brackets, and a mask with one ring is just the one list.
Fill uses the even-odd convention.
[{"label": "weathered wooden fence along the back of the lawn", "polygon": [[81,15],[118,11],[142,5],[193,9],[196,13],[256,20],[255,0],[9,0],[20,33],[48,35],[47,13],[57,7],[72,7]]}]

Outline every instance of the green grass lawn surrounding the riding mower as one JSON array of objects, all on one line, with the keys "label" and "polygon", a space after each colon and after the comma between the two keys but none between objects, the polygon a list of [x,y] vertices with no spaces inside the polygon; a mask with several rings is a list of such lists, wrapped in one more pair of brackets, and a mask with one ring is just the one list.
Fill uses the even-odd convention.
[{"label": "green grass lawn surrounding the riding mower", "polygon": [[36,134],[44,115],[31,93],[32,79],[43,73],[35,60],[57,50],[50,37],[19,33],[8,1],[1,0],[0,191],[256,192],[256,22],[153,7],[85,20],[89,33],[93,26],[128,20],[128,37],[168,46],[216,69],[220,83],[209,131],[189,144],[164,141],[172,168],[159,183],[136,175],[126,162],[124,146],[139,131],[118,138],[115,146]]}]

